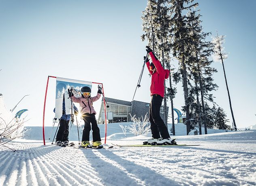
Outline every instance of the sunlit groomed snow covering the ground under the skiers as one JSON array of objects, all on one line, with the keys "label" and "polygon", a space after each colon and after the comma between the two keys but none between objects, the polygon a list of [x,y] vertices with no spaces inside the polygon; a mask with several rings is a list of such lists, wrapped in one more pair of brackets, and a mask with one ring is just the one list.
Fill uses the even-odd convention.
[{"label": "sunlit groomed snow covering the ground under the skiers", "polygon": [[[18,150],[0,150],[0,186],[256,185],[256,130],[175,136],[177,144],[200,146],[108,148],[141,144],[151,136],[127,131],[126,138],[119,124],[109,124],[107,144],[99,150],[62,148],[51,140],[43,146],[42,127],[26,127],[28,136],[10,143]],[[177,134],[183,133],[182,125],[175,124]],[[99,127],[104,142],[105,125]],[[51,129],[46,127],[45,133]],[[75,131],[77,126],[71,128],[70,140],[77,144]]]}]

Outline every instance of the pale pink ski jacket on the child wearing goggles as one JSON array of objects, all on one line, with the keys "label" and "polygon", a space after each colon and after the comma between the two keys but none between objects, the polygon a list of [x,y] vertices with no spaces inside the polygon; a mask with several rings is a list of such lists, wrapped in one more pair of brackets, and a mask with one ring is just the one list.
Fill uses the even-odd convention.
[{"label": "pale pink ski jacket on the child wearing goggles", "polygon": [[75,103],[79,103],[80,105],[80,112],[83,116],[83,114],[89,113],[89,114],[96,114],[96,111],[94,110],[92,103],[94,101],[97,101],[98,99],[100,99],[101,94],[97,93],[96,96],[94,97],[89,97],[89,98],[84,98],[84,97],[75,97],[72,96],[72,101]]}]

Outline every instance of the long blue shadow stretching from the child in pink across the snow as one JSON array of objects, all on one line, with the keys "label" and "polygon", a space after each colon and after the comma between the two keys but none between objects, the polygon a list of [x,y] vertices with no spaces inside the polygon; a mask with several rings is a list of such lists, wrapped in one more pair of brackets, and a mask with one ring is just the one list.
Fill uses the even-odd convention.
[{"label": "long blue shadow stretching from the child in pink across the snow", "polygon": [[[132,161],[122,159],[113,149],[83,150],[104,185],[180,185],[163,175]],[[146,157],[145,157],[146,158]]]}]

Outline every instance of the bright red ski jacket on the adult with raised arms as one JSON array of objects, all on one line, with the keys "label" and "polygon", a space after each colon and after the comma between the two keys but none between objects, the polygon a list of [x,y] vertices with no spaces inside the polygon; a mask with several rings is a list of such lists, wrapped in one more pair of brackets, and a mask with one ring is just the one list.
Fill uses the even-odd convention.
[{"label": "bright red ski jacket on the adult with raised arms", "polygon": [[157,60],[153,54],[153,52],[149,53],[154,66],[156,67],[156,71],[153,72],[149,68],[149,61],[147,64],[147,69],[151,74],[151,85],[150,85],[150,95],[158,94],[164,97],[164,80],[169,78],[170,71],[168,69],[164,69],[159,60]]}]

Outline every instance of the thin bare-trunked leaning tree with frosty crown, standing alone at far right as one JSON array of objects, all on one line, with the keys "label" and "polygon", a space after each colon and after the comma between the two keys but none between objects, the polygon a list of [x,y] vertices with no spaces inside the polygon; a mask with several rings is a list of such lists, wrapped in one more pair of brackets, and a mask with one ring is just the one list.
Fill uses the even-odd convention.
[{"label": "thin bare-trunked leaning tree with frosty crown, standing alone at far right", "polygon": [[[217,32],[217,30],[216,30],[216,32]],[[225,53],[224,48],[223,48],[223,44],[225,42],[224,37],[225,36],[218,36],[218,32],[217,32],[217,36],[213,37],[213,40],[212,40],[212,42],[214,44],[213,59],[215,61],[221,61],[222,62],[222,67],[223,67],[223,72],[224,72],[224,77],[225,77],[225,82],[226,82],[226,88],[227,88],[227,91],[228,91],[228,100],[229,100],[230,111],[231,111],[235,131],[237,131],[237,125],[236,125],[235,117],[234,117],[234,114],[233,114],[231,99],[230,99],[229,90],[228,90],[228,82],[227,82],[226,72],[225,72],[225,68],[224,68],[224,59],[228,58],[228,55]]]}]

